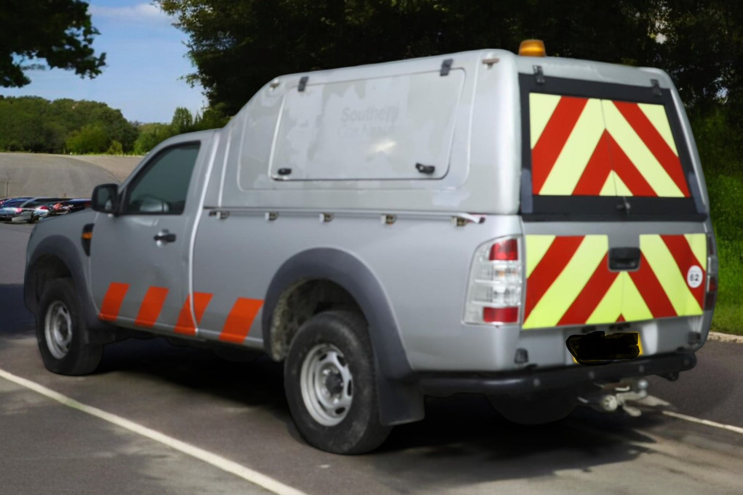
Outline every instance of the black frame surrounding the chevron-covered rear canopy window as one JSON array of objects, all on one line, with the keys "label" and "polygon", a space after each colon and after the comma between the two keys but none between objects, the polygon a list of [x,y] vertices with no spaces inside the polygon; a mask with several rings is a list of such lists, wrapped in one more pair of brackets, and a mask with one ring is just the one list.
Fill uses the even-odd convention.
[{"label": "black frame surrounding the chevron-covered rear canopy window", "polygon": [[[650,83],[650,81],[648,81]],[[689,149],[678,113],[668,88],[652,85],[637,86],[545,77],[538,84],[533,74],[519,74],[520,104],[522,114],[522,178],[520,213],[527,221],[554,221],[557,219],[586,220],[636,220],[636,221],[698,221],[707,219],[699,181],[695,174]],[[661,94],[658,94],[660,91]],[[690,198],[649,198],[642,196],[563,196],[535,195],[531,181],[531,121],[529,95],[531,93],[559,96],[599,98],[631,103],[663,105],[666,109],[673,139],[677,143],[678,158],[687,179]],[[629,213],[623,205],[629,201]]]}]

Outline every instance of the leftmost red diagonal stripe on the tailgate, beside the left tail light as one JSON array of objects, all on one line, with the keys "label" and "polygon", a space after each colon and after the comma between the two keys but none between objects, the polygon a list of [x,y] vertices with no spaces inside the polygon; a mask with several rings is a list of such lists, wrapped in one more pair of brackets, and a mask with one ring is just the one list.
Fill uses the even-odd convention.
[{"label": "leftmost red diagonal stripe on the tailgate, beside the left tail light", "polygon": [[539,264],[527,279],[524,320],[529,317],[536,303],[542,299],[548,288],[568,265],[580,243],[583,242],[583,238],[584,236],[562,236],[554,239],[545,256],[542,256]]}]

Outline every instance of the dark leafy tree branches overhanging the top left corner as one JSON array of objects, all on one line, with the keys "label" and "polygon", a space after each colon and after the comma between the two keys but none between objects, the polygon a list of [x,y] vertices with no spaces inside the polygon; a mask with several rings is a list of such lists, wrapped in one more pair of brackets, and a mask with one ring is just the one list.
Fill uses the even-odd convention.
[{"label": "dark leafy tree branches overhanging the top left corner", "polygon": [[30,83],[23,69],[38,67],[25,65],[36,59],[91,78],[105,65],[106,54],[95,56],[91,47],[99,32],[91,25],[85,1],[3,0],[0,31],[0,86]]}]

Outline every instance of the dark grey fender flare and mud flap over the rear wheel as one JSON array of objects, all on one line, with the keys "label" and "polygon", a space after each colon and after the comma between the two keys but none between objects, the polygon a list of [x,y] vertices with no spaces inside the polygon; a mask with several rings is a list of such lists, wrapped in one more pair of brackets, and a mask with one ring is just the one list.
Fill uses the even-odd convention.
[{"label": "dark grey fender flare and mud flap over the rear wheel", "polygon": [[369,322],[369,337],[377,363],[377,390],[383,424],[403,424],[424,417],[423,394],[410,378],[408,361],[392,305],[369,266],[342,250],[316,247],[289,258],[276,271],[266,291],[262,329],[270,355],[271,322],[279,297],[300,279],[328,279],[345,288]]}]

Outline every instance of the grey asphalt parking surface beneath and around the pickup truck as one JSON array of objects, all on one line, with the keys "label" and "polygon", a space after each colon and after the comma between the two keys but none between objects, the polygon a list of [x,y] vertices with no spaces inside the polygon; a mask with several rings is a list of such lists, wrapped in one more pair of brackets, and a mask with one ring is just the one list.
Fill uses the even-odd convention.
[{"label": "grey asphalt parking surface beneath and around the pickup truck", "polygon": [[[0,369],[207,450],[307,494],[740,494],[743,344],[708,342],[698,366],[650,392],[643,416],[579,410],[543,427],[510,424],[476,395],[426,402],[380,450],[334,456],[296,432],[282,368],[230,363],[164,340],[107,346],[85,377],[44,369],[22,304],[30,227],[0,225]],[[244,479],[0,378],[0,494],[257,494]]]}]

